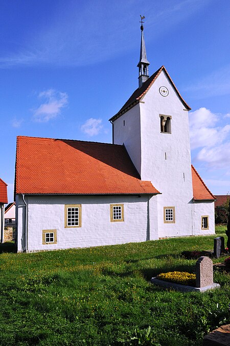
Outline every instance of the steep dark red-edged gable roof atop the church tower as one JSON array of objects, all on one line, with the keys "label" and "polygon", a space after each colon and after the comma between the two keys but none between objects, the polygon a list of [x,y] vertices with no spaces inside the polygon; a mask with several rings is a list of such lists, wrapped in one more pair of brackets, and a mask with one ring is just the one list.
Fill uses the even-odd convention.
[{"label": "steep dark red-edged gable roof atop the church tower", "polygon": [[135,106],[137,103],[139,103],[142,99],[142,97],[146,94],[146,92],[149,90],[149,88],[153,85],[157,77],[160,75],[162,71],[165,71],[166,76],[170,80],[171,84],[173,85],[175,92],[179,96],[182,104],[186,107],[186,109],[191,110],[189,105],[183,100],[182,96],[180,95],[179,91],[177,90],[175,84],[173,83],[171,77],[169,76],[169,73],[167,72],[165,66],[160,67],[156,72],[153,73],[152,76],[150,76],[147,81],[141,86],[141,88],[136,89],[133,94],[129,97],[128,101],[124,104],[124,106],[120,109],[120,111],[113,115],[109,120],[115,120],[119,118],[122,114],[124,114],[127,110]]}]

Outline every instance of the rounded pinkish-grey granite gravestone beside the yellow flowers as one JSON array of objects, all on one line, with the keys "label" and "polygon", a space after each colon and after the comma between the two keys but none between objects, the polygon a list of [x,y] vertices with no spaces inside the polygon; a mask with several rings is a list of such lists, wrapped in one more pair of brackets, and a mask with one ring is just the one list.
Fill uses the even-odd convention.
[{"label": "rounded pinkish-grey granite gravestone beside the yellow flowers", "polygon": [[213,261],[201,256],[196,262],[196,287],[213,285]]}]

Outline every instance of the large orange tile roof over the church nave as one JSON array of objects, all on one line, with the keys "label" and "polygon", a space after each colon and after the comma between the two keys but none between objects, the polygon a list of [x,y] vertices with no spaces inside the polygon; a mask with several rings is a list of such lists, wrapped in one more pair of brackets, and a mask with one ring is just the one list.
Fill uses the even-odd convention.
[{"label": "large orange tile roof over the church nave", "polygon": [[15,193],[156,194],[123,145],[17,137]]}]

